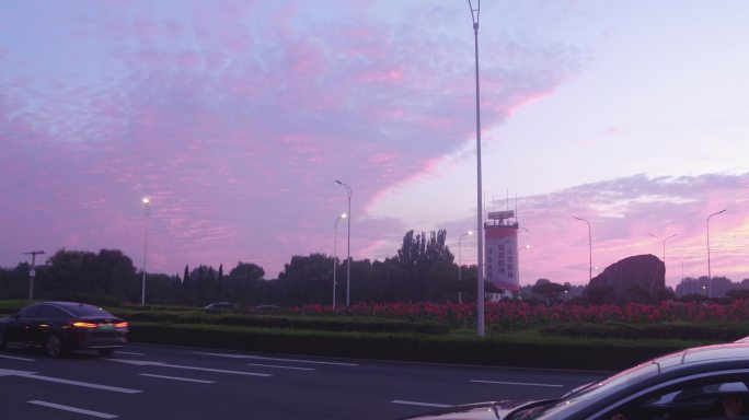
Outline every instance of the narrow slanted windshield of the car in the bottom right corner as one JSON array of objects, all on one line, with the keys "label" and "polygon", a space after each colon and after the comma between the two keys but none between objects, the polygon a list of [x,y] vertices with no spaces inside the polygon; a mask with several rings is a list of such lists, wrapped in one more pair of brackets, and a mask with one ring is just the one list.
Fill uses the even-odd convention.
[{"label": "narrow slanted windshield of the car in the bottom right corner", "polygon": [[575,407],[586,404],[586,401],[603,398],[607,395],[621,389],[627,384],[639,382],[646,377],[655,376],[660,371],[660,368],[661,364],[659,364],[658,361],[649,361],[647,363],[636,365],[601,382],[595,382],[573,389],[558,399],[542,401],[542,404],[539,405],[523,406],[511,412],[507,417],[507,420],[539,419],[546,415],[575,409]]}]

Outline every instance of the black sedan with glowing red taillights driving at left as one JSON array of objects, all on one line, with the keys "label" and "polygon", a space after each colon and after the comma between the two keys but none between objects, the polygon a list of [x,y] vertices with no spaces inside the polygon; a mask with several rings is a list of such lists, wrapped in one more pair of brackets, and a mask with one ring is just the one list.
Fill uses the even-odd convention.
[{"label": "black sedan with glowing red taillights driving at left", "polygon": [[71,350],[97,350],[102,355],[127,343],[128,323],[84,303],[31,304],[0,319],[0,349],[42,348],[50,357]]}]

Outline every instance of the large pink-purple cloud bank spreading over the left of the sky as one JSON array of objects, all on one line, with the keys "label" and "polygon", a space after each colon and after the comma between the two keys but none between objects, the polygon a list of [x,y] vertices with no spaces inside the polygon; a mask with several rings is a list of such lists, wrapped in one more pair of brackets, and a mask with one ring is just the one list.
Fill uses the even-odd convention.
[{"label": "large pink-purple cloud bank spreading over the left of the sky", "polygon": [[[327,250],[331,214],[346,206],[334,179],[354,186],[356,218],[472,133],[473,62],[457,58],[470,36],[435,39],[376,16],[315,20],[301,3],[196,2],[169,16],[145,4],[70,11],[87,59],[77,75],[49,67],[0,78],[0,187],[19,200],[0,199],[13,208],[0,219],[0,264],[37,245],[120,248],[137,261],[148,195],[153,270],[244,260],[274,277],[293,253]],[[575,67],[564,48],[523,48],[510,69],[484,61],[486,129]],[[404,232],[355,222],[357,258]]]}]

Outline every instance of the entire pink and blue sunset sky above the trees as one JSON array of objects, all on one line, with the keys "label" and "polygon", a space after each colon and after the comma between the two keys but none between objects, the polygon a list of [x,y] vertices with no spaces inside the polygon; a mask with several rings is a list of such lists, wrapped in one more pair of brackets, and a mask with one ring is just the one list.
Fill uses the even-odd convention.
[{"label": "entire pink and blue sunset sky above the trees", "polygon": [[[518,210],[521,284],[664,244],[669,285],[707,275],[707,249],[713,276],[749,278],[747,15],[481,4],[482,199]],[[116,248],[275,279],[345,257],[336,179],[355,259],[446,229],[475,264],[475,88],[466,1],[3,1],[0,266]]]}]

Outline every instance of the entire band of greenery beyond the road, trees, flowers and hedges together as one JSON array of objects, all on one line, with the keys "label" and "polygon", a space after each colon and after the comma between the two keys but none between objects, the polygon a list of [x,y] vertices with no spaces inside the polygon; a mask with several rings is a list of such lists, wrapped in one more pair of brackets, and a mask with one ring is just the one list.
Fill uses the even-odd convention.
[{"label": "entire band of greenery beyond the road, trees, flowers and hedges together", "polygon": [[[676,290],[603,304],[611,300],[583,285],[539,279],[522,300],[487,302],[480,338],[475,266],[459,268],[446,241],[443,230],[410,231],[393,257],[352,260],[350,305],[348,261],[337,264],[334,305],[336,260],[324,254],[293,256],[272,280],[242,261],[228,273],[223,266],[146,273],[141,306],[143,272],[122,252],[59,249],[35,267],[33,296],[100,305],[130,322],[136,342],[404,361],[613,370],[749,336],[749,280],[687,278]],[[28,303],[30,269],[0,268],[0,315]],[[707,300],[707,285],[721,298]],[[235,306],[203,310],[220,301]]]}]

